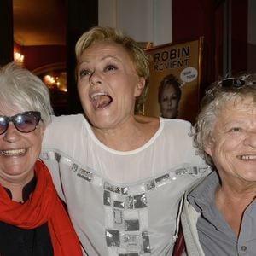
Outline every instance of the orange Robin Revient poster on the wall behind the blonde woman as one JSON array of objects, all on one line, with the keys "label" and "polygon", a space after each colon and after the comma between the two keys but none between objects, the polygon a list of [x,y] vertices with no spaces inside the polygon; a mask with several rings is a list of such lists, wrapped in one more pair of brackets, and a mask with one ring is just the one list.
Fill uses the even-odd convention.
[{"label": "orange Robin Revient poster on the wall behind the blonde woman", "polygon": [[145,49],[151,55],[150,83],[143,112],[195,122],[200,104],[203,38]]}]

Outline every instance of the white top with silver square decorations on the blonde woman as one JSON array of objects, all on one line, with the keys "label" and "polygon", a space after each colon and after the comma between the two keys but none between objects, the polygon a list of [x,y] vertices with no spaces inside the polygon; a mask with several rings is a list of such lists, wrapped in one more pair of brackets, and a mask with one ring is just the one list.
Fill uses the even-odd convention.
[{"label": "white top with silver square decorations on the blonde woman", "polygon": [[121,152],[82,114],[53,119],[41,158],[88,255],[172,255],[183,190],[208,172],[189,131],[187,121],[160,119],[148,143]]}]

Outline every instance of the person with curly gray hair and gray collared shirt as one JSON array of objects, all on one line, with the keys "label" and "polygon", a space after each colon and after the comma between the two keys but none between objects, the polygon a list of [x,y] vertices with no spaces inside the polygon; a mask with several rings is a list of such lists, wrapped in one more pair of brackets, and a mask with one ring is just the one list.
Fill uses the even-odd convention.
[{"label": "person with curly gray hair and gray collared shirt", "polygon": [[198,153],[212,172],[185,195],[188,255],[256,253],[256,76],[218,81],[195,125]]}]

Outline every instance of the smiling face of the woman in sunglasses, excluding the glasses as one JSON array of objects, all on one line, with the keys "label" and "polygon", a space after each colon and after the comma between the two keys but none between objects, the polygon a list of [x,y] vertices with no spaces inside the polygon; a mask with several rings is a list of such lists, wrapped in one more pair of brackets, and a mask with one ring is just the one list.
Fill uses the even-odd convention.
[{"label": "smiling face of the woman in sunglasses, excluding the glasses", "polygon": [[[2,116],[13,116],[18,112],[0,112]],[[44,124],[31,132],[18,131],[12,122],[0,135],[0,183],[9,188],[9,184],[26,184],[33,177],[33,168],[41,151],[44,136]]]}]

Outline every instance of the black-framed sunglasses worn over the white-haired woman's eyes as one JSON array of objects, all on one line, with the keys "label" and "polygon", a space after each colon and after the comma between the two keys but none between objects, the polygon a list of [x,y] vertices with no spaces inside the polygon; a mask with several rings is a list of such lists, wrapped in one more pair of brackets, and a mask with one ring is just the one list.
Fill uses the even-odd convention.
[{"label": "black-framed sunglasses worn over the white-haired woman's eyes", "polygon": [[41,113],[38,111],[26,111],[15,114],[14,116],[0,116],[0,134],[7,131],[9,122],[13,122],[15,128],[20,132],[34,131],[41,119]]}]

